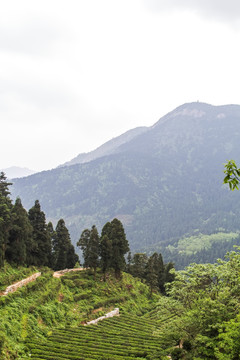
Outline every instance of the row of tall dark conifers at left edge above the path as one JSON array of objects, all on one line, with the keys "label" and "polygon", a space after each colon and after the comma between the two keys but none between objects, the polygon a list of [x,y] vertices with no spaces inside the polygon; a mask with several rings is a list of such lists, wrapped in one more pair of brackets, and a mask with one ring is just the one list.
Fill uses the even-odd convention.
[{"label": "row of tall dark conifers at left edge above the path", "polygon": [[22,266],[48,266],[54,270],[72,268],[79,261],[63,219],[56,228],[46,217],[38,200],[27,212],[21,199],[10,199],[9,186],[0,174],[0,268],[4,261]]}]

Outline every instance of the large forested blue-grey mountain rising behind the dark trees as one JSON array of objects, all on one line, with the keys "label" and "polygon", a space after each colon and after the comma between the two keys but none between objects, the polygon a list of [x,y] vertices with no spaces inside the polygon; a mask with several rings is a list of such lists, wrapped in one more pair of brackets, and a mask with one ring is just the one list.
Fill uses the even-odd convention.
[{"label": "large forested blue-grey mountain rising behind the dark trees", "polygon": [[12,195],[26,208],[39,199],[48,219],[65,219],[74,241],[85,227],[101,231],[117,217],[132,251],[178,262],[189,255],[180,245],[193,237],[196,244],[196,236],[233,233],[211,238],[210,250],[224,253],[240,230],[239,193],[222,184],[223,163],[240,158],[239,137],[239,105],[184,104],[112,153],[14,180]]}]

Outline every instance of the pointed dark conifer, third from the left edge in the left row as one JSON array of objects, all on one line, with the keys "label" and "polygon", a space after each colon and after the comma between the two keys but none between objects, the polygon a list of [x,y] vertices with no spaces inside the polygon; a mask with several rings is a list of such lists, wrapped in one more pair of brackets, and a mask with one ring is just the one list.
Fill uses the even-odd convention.
[{"label": "pointed dark conifer, third from the left edge in the left row", "polygon": [[38,200],[29,210],[28,217],[33,227],[32,247],[27,249],[28,263],[37,266],[51,266],[49,254],[52,251],[51,238],[47,231],[46,217]]}]

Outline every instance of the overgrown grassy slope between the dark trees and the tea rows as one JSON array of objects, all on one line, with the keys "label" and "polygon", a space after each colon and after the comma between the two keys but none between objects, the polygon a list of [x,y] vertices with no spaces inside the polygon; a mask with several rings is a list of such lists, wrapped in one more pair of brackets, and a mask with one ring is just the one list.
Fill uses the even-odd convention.
[{"label": "overgrown grassy slope between the dark trees and the tea rows", "polygon": [[[120,281],[109,274],[104,282],[101,273],[95,281],[90,271],[56,279],[50,270],[41,270],[43,275],[36,281],[0,297],[1,359],[24,359],[25,340],[33,335],[44,340],[56,327],[79,326],[114,307],[141,315],[158,299],[149,299],[148,287],[128,274]],[[17,270],[12,271],[17,278]]]}]

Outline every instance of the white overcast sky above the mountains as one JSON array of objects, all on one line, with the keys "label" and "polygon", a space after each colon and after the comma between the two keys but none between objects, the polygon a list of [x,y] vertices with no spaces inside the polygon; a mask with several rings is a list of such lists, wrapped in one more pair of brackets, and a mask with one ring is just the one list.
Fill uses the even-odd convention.
[{"label": "white overcast sky above the mountains", "polygon": [[0,168],[45,170],[192,101],[239,104],[239,0],[8,0]]}]

